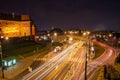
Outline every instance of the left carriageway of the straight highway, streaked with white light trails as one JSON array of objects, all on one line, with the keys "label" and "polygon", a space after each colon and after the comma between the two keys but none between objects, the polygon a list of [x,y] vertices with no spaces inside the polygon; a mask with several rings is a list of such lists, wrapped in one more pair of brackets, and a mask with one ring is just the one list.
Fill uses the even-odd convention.
[{"label": "left carriageway of the straight highway, streaked with white light trails", "polygon": [[80,42],[73,44],[72,46],[68,47],[61,53],[59,53],[54,58],[50,59],[49,61],[45,62],[42,66],[38,67],[37,69],[33,70],[31,73],[25,75],[22,80],[41,80],[45,76],[47,76],[52,70],[54,70],[59,64],[61,64],[68,56],[72,55],[74,50],[76,50],[77,46]]}]

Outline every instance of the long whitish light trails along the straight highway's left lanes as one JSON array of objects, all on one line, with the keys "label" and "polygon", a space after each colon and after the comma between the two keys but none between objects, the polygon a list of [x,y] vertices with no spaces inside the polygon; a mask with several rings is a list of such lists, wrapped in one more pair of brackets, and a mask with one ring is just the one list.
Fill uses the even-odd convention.
[{"label": "long whitish light trails along the straight highway's left lanes", "polygon": [[[44,63],[42,66],[38,67],[37,69],[35,69],[33,72],[27,74],[26,76],[24,76],[22,78],[22,80],[30,80],[32,77],[34,77],[35,75],[37,75],[41,70],[43,70],[44,68],[48,67],[49,65],[51,65],[52,63],[57,64],[57,61],[59,61],[58,59],[62,58],[65,56],[65,54],[70,54],[74,49],[75,46],[77,46],[79,43],[75,43],[72,46],[68,47],[66,50],[62,51],[60,54],[58,54],[57,56],[55,56],[54,58],[50,59],[49,61],[47,61],[46,63]],[[52,66],[53,67],[53,66]],[[49,67],[50,69],[51,66]],[[49,69],[48,68],[48,69]],[[50,70],[49,70],[50,71]]]}]

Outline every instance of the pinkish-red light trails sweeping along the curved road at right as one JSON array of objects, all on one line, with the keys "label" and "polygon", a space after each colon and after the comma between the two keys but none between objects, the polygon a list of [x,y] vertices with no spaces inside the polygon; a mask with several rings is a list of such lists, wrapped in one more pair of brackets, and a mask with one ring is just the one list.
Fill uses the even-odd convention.
[{"label": "pinkish-red light trails sweeping along the curved road at right", "polygon": [[[89,75],[90,72],[95,71],[97,67],[110,63],[109,60],[112,59],[111,61],[113,62],[113,58],[115,57],[115,53],[113,52],[112,48],[102,43],[99,43],[99,44],[105,47],[106,51],[99,58],[97,58],[96,60],[88,64],[87,75]],[[84,80],[84,72],[79,76],[79,80]]]}]

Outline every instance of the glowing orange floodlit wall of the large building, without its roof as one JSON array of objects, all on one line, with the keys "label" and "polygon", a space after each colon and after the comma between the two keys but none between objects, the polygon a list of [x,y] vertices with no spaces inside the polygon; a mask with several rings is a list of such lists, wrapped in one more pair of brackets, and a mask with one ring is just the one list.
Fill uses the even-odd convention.
[{"label": "glowing orange floodlit wall of the large building, without its roof", "polygon": [[4,37],[30,36],[30,21],[0,20],[0,28]]}]

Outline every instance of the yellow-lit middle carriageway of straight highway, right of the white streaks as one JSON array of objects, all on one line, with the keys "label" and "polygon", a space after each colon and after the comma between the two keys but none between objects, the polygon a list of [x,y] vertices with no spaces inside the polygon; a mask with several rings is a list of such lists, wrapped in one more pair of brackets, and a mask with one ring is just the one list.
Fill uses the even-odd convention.
[{"label": "yellow-lit middle carriageway of straight highway, right of the white streaks", "polygon": [[84,59],[84,57],[82,58],[84,51],[85,50],[81,45],[78,46],[77,50],[74,50],[74,53],[67,58],[66,61],[61,63],[57,70],[52,71],[43,80],[68,80],[72,78],[72,76],[74,76],[73,74],[75,74],[77,65],[81,64]]}]

